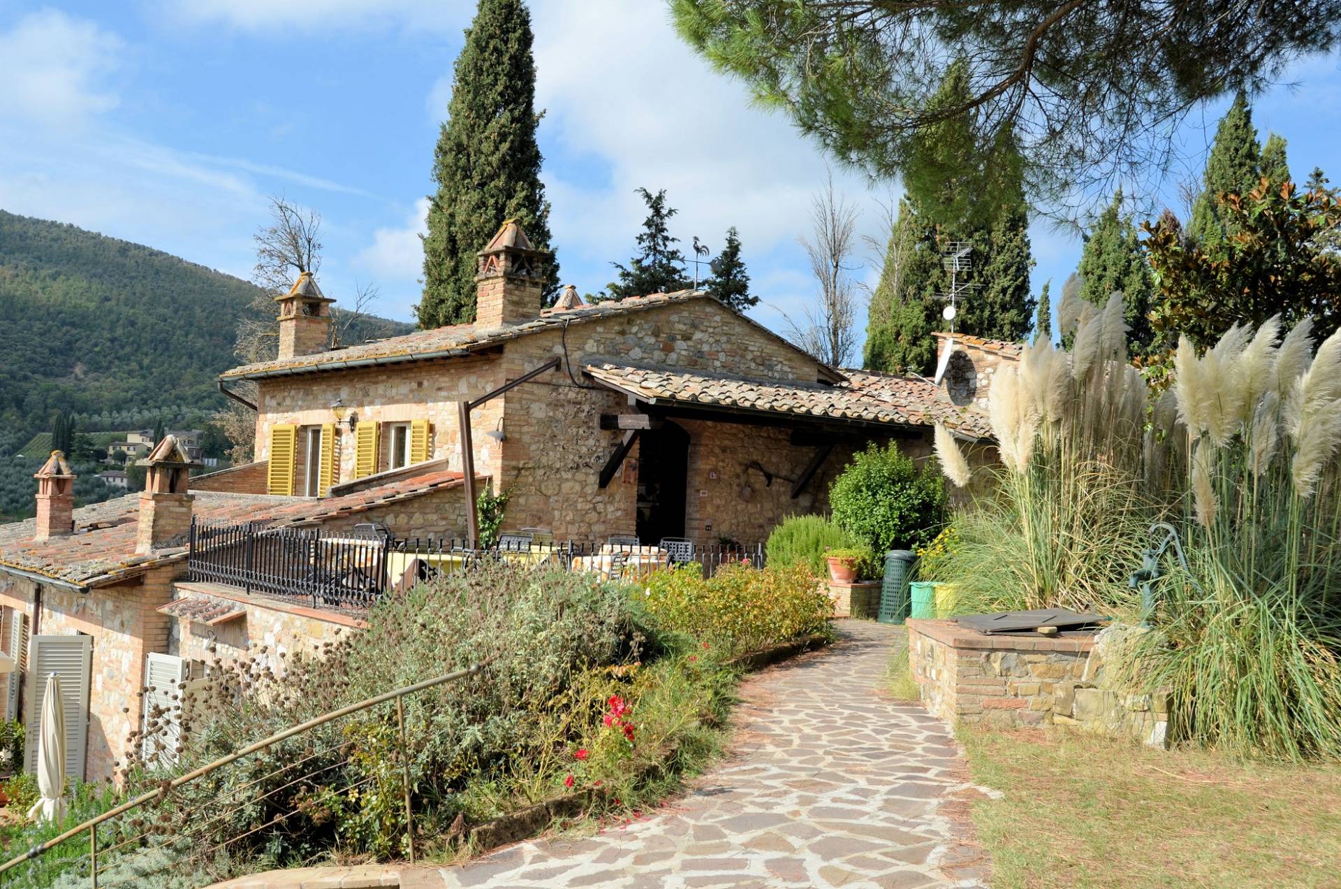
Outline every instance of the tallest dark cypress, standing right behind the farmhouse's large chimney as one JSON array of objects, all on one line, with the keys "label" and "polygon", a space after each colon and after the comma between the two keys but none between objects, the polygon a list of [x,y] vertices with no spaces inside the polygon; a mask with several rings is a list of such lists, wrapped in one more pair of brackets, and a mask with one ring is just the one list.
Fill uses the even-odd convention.
[{"label": "tallest dark cypress, standing right behind the farmhouse's large chimney", "polygon": [[[429,199],[424,236],[421,328],[475,320],[476,252],[504,220],[516,219],[536,250],[551,250],[531,42],[523,0],[479,0],[433,152],[437,193]],[[551,258],[543,273],[544,301],[551,302],[558,263]]]}]

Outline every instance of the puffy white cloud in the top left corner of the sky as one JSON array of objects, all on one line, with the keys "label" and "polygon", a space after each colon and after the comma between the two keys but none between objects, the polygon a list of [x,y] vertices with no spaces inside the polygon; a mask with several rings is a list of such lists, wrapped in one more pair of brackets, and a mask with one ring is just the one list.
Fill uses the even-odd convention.
[{"label": "puffy white cloud in the top left corner of the sky", "polygon": [[93,21],[56,9],[0,31],[0,117],[71,128],[117,106],[107,82],[123,44]]}]

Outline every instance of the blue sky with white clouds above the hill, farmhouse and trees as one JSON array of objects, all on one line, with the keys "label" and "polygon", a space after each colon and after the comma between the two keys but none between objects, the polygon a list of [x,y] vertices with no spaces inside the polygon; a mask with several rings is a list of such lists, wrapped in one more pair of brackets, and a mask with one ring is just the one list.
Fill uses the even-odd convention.
[{"label": "blue sky with white clouds above the hill, farmhouse and trees", "polygon": [[[375,310],[412,320],[424,196],[469,0],[0,0],[0,208],[68,222],[247,277],[266,197],[323,216],[329,295],[375,282]],[[721,243],[738,226],[754,316],[782,329],[813,286],[797,238],[823,156],[779,115],[680,43],[654,0],[532,0],[546,109],[540,146],[563,283],[595,290],[626,261],[644,208],[665,188],[673,232]],[[1289,141],[1297,177],[1321,165],[1341,184],[1341,67],[1298,62],[1254,105]],[[1155,196],[1177,208],[1227,101],[1177,138],[1189,157]],[[835,171],[882,231],[872,187]],[[1035,293],[1054,293],[1080,242],[1033,228]],[[862,273],[873,279],[874,265]],[[864,321],[862,310],[861,320]],[[220,320],[231,324],[231,320]]]}]

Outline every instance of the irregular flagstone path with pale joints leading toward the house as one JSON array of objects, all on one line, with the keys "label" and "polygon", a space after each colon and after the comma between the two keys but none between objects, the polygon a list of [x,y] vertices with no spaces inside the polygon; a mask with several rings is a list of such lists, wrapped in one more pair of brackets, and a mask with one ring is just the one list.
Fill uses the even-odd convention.
[{"label": "irregular flagstone path with pale joints leading toward the house", "polygon": [[526,842],[416,885],[986,885],[963,826],[975,791],[953,739],[920,705],[878,692],[902,628],[838,627],[831,649],[746,681],[730,759],[681,799],[591,838]]}]

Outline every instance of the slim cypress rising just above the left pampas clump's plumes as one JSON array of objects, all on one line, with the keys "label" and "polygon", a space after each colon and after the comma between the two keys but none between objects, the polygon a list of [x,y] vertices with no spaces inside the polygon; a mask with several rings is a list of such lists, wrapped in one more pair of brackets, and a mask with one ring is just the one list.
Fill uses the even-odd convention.
[{"label": "slim cypress rising just above the left pampas clump's plumes", "polygon": [[1096,306],[1106,303],[1114,290],[1122,291],[1122,314],[1130,328],[1128,340],[1132,352],[1143,355],[1153,337],[1149,312],[1155,281],[1136,236],[1136,226],[1130,216],[1122,214],[1121,188],[1085,238],[1080,275],[1081,298]]}]

